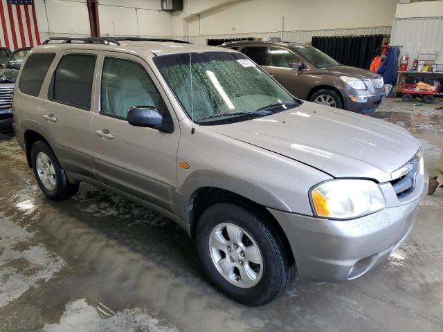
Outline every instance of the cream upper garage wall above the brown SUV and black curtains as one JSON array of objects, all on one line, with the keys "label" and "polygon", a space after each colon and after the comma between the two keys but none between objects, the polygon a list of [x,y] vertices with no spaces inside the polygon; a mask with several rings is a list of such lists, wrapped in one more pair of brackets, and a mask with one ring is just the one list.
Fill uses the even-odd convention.
[{"label": "cream upper garage wall above the brown SUV and black curtains", "polygon": [[[189,9],[185,1],[185,11],[195,15],[190,24],[193,42],[204,44],[206,38],[246,36],[309,42],[313,35],[389,34],[397,2],[190,0]],[[188,35],[188,21],[182,13],[172,15],[174,36]]]}]

